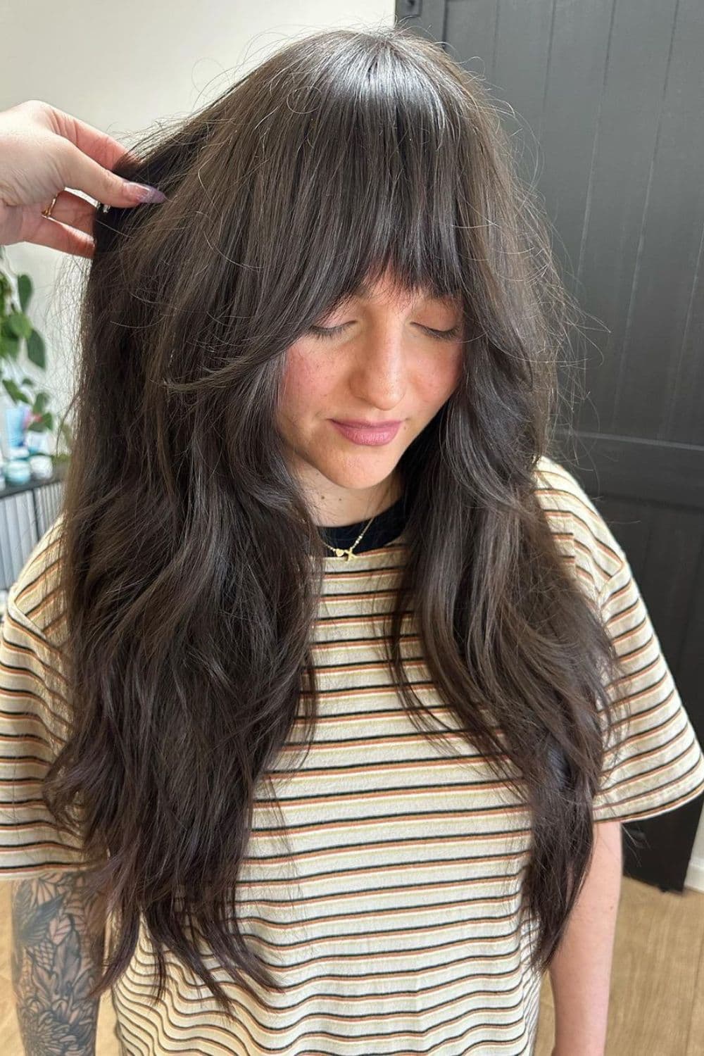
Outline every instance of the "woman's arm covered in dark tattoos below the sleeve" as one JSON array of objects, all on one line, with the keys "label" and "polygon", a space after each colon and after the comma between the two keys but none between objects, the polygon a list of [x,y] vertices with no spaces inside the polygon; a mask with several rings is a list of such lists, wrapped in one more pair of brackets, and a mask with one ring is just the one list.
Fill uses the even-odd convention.
[{"label": "woman's arm covered in dark tattoos below the sleeve", "polygon": [[94,1056],[104,950],[104,906],[81,872],[49,872],[12,884],[12,977],[26,1056]]}]

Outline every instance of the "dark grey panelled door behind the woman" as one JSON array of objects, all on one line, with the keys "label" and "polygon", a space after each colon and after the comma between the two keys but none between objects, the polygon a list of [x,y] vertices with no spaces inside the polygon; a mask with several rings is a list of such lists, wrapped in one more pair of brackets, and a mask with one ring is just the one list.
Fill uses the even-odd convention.
[{"label": "dark grey panelled door behind the woman", "polygon": [[[399,0],[396,16],[515,111],[520,174],[588,314],[566,460],[627,552],[704,742],[704,4]],[[701,811],[629,824],[626,873],[681,890]]]}]

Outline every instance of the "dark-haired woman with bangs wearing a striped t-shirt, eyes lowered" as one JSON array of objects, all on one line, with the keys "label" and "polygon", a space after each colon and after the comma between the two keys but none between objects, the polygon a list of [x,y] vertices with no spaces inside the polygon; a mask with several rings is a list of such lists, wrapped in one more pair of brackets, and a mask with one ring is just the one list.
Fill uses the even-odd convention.
[{"label": "dark-haired woman with bangs wearing a striped t-shirt, eyes lowered", "polygon": [[[577,313],[496,112],[437,44],[338,30],[104,158],[94,240],[31,209],[92,263],[1,642],[15,926],[80,883],[77,1044],[110,987],[129,1054],[530,1053],[600,828],[613,859],[704,755],[549,455]],[[553,978],[556,1053],[603,1049],[611,938]]]}]

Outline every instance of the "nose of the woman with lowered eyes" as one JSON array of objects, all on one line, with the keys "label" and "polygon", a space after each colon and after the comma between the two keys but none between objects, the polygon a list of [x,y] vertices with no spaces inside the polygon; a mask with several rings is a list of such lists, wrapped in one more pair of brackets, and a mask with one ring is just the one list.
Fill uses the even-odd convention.
[{"label": "nose of the woman with lowered eyes", "polygon": [[369,407],[391,411],[405,395],[407,367],[402,326],[377,326],[355,348],[349,389]]}]

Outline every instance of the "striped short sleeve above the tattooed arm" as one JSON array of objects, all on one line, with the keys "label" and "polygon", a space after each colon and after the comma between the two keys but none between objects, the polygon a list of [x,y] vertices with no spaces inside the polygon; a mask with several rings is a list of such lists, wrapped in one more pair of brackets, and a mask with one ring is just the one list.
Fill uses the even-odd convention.
[{"label": "striped short sleeve above the tattooed arm", "polygon": [[56,650],[11,588],[0,628],[0,880],[81,867],[77,841],[59,830],[41,794],[62,742],[60,698],[50,689]]}]

